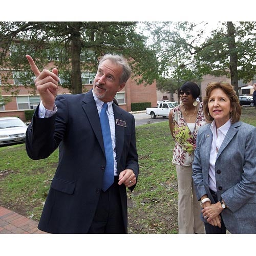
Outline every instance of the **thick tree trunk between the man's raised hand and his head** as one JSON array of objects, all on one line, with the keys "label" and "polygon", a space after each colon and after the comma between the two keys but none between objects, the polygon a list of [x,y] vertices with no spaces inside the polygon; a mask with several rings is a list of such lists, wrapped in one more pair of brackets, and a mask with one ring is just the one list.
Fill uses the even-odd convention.
[{"label": "thick tree trunk between the man's raised hand and his head", "polygon": [[81,79],[81,40],[80,35],[74,35],[71,41],[71,90],[72,94],[82,93]]}]

